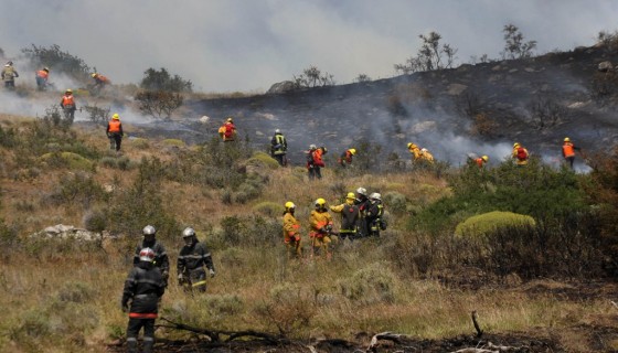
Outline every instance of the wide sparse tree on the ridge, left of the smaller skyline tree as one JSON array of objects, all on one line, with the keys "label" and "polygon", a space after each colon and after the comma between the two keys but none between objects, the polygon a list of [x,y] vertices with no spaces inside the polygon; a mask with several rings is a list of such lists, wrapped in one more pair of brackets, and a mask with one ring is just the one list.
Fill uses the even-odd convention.
[{"label": "wide sparse tree on the ridge, left of the smaller skyline tree", "polygon": [[395,64],[395,71],[412,74],[422,71],[451,68],[457,56],[457,49],[449,44],[440,45],[443,36],[437,32],[418,35],[423,41],[416,56],[406,60],[404,64]]}]

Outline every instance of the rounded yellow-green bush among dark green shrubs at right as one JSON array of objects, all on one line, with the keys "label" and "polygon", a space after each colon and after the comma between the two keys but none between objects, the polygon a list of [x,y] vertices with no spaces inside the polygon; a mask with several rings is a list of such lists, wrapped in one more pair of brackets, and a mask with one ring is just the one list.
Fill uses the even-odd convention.
[{"label": "rounded yellow-green bush among dark green shrubs at right", "polygon": [[458,236],[483,236],[505,227],[534,226],[531,216],[512,212],[493,211],[471,216],[455,228]]}]

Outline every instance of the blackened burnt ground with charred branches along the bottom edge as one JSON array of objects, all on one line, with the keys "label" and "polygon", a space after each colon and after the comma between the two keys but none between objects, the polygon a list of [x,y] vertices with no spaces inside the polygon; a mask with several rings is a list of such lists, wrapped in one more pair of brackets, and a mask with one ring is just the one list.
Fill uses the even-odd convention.
[{"label": "blackened burnt ground with charred branches along the bottom edge", "polygon": [[[295,341],[264,332],[221,332],[184,327],[163,319],[158,321],[160,339],[157,341],[157,352],[444,353],[465,349],[486,349],[489,352],[618,352],[618,307],[612,302],[618,292],[618,284],[558,284],[539,280],[519,285],[516,289],[503,290],[518,290],[532,297],[551,296],[556,300],[578,303],[589,300],[607,301],[608,310],[615,310],[615,314],[587,319],[585,322],[574,320],[577,323],[572,327],[530,328],[523,332],[482,332],[482,320],[479,320],[480,335],[471,319],[470,333],[465,335],[425,340],[403,332],[359,332],[352,341]],[[181,330],[188,333],[189,339],[167,340],[162,338],[162,330]],[[125,350],[122,342],[108,346],[109,352]]]}]

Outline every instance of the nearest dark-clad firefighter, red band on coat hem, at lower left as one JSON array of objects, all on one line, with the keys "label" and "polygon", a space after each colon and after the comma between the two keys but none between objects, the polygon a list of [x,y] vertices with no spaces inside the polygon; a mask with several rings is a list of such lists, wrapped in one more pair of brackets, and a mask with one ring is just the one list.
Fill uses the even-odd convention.
[{"label": "nearest dark-clad firefighter, red band on coat hem, at lower left", "polygon": [[138,263],[127,276],[122,299],[124,312],[129,313],[127,327],[127,351],[137,353],[137,338],[143,328],[143,352],[151,353],[154,346],[154,320],[158,317],[159,302],[166,291],[161,270],[154,266],[154,250],[142,248]]}]

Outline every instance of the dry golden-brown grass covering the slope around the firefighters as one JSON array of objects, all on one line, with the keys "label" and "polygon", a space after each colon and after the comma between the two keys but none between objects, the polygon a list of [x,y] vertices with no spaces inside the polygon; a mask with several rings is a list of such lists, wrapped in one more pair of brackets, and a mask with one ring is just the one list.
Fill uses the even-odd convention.
[{"label": "dry golden-brown grass covering the slope around the firefighters", "polygon": [[[19,124],[22,118],[0,116],[1,124]],[[8,122],[10,120],[11,122]],[[86,145],[96,146],[105,156],[108,141],[102,131],[81,131]],[[191,148],[191,147],[179,147]],[[10,153],[1,150],[2,153]],[[139,161],[157,156],[173,160],[177,154],[163,148],[162,141],[149,141],[147,149],[125,145],[124,157]],[[31,180],[2,176],[2,217],[8,224],[21,225],[21,237],[45,226],[63,223],[82,226],[84,213],[76,206],[42,204],[41,195],[50,193],[68,170],[44,171]],[[127,188],[136,170],[98,165],[93,178],[100,185],[118,180]],[[200,184],[164,181],[161,195],[164,207],[181,224],[191,224],[206,244],[221,232],[220,221],[228,216],[251,215],[260,203],[297,204],[297,216],[307,225],[312,202],[324,197],[337,204],[359,186],[367,191],[397,192],[411,204],[425,204],[447,194],[444,180],[424,173],[359,175],[338,180],[332,170],[324,178],[309,182],[303,168],[276,169],[268,172],[262,195],[245,204],[224,204],[222,190]],[[388,205],[386,205],[388,207]],[[386,208],[387,210],[387,208]],[[162,314],[187,323],[214,330],[257,330],[285,332],[292,338],[340,338],[353,340],[359,332],[392,331],[417,338],[439,339],[470,334],[470,312],[477,310],[486,331],[508,332],[535,330],[540,334],[563,332],[571,352],[585,352],[586,346],[567,339],[577,324],[611,323],[616,310],[603,299],[563,300],[552,290],[568,287],[558,281],[543,281],[548,290],[531,291],[530,285],[510,290],[488,288],[476,291],[446,288],[437,280],[401,274],[385,261],[393,246],[390,232],[407,235],[405,214],[391,222],[391,229],[380,242],[358,242],[338,250],[333,260],[303,259],[288,261],[284,245],[264,237],[263,246],[213,248],[217,277],[209,281],[205,296],[187,296],[174,284],[162,301]],[[280,222],[279,215],[266,216]],[[337,220],[337,217],[335,217]],[[305,232],[305,244],[307,236]],[[256,235],[256,237],[262,235]],[[279,237],[279,233],[275,237]],[[19,248],[6,249],[0,261],[0,352],[105,352],[105,343],[124,335],[127,318],[119,310],[119,299],[132,239],[105,243],[104,248],[77,244],[24,242]],[[172,269],[175,269],[180,238],[166,240]],[[308,254],[308,247],[305,249]],[[174,274],[174,271],[172,271]],[[539,285],[539,284],[536,284]],[[359,291],[351,296],[350,288]],[[291,302],[284,293],[289,291]],[[182,338],[166,330],[159,335]],[[547,333],[553,334],[553,333]]]}]

